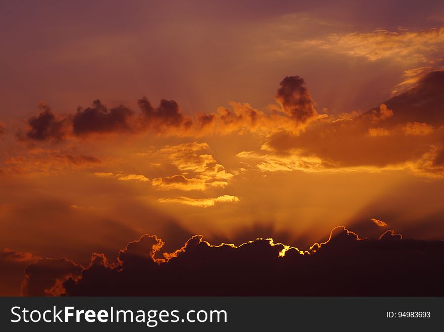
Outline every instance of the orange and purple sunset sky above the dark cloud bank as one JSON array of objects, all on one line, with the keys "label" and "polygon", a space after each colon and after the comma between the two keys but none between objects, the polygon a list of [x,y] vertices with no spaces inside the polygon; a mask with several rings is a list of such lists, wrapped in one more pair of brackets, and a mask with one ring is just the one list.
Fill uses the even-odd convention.
[{"label": "orange and purple sunset sky above the dark cloud bank", "polygon": [[442,2],[0,6],[0,295],[143,234],[444,239]]}]

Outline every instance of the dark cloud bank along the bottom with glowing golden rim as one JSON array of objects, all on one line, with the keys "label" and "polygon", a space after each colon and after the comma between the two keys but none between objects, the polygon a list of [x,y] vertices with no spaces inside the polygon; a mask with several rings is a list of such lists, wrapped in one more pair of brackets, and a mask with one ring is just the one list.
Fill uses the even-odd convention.
[{"label": "dark cloud bank along the bottom with glowing golden rim", "polygon": [[93,253],[84,268],[67,259],[37,260],[25,270],[23,295],[444,295],[444,241],[406,240],[392,230],[369,240],[336,227],[328,241],[307,251],[269,240],[211,246],[195,235],[160,258],[162,245],[145,234],[121,250],[116,263]]}]

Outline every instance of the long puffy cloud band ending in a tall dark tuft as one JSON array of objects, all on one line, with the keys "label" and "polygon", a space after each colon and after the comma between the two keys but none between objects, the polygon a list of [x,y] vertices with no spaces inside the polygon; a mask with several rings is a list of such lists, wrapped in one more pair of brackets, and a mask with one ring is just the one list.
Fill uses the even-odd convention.
[{"label": "long puffy cloud band ending in a tall dark tuft", "polygon": [[90,107],[79,107],[75,114],[57,120],[49,106],[40,103],[42,112],[29,119],[31,129],[17,134],[22,139],[62,140],[73,135],[91,134],[157,134],[163,136],[201,137],[213,134],[252,132],[268,135],[282,130],[299,133],[313,120],[325,117],[318,115],[304,80],[299,76],[287,76],[275,96],[281,105],[270,105],[259,111],[248,103],[230,102],[232,110],[219,107],[216,113],[197,112],[195,117],[181,112],[177,102],[162,99],[154,108],[143,97],[138,100],[140,112],[119,105],[108,109],[100,100],[93,101]]}]

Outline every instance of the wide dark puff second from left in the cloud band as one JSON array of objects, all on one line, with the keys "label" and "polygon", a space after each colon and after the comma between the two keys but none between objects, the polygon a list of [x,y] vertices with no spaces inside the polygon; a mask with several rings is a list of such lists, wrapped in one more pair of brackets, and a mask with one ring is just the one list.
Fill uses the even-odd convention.
[{"label": "wide dark puff second from left in the cloud band", "polygon": [[73,133],[77,136],[92,133],[113,133],[132,131],[130,123],[134,111],[120,105],[107,109],[100,100],[95,100],[91,107],[78,108],[73,117]]}]

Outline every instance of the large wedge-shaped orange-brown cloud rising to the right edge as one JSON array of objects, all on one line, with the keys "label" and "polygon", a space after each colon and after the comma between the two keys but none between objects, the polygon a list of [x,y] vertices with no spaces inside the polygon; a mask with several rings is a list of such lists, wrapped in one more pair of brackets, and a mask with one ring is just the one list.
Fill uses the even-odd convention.
[{"label": "large wedge-shaped orange-brown cloud rising to the right edge", "polygon": [[[412,88],[363,114],[330,116],[294,135],[272,134],[262,153],[241,152],[262,171],[306,172],[409,169],[437,177],[444,147],[444,72],[426,74]],[[439,159],[439,158],[438,158]]]}]

